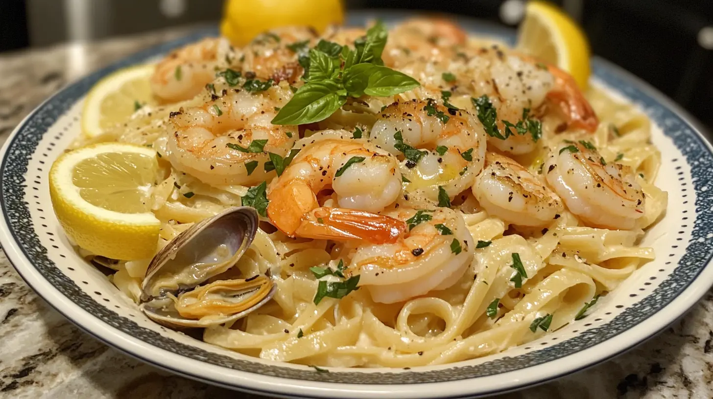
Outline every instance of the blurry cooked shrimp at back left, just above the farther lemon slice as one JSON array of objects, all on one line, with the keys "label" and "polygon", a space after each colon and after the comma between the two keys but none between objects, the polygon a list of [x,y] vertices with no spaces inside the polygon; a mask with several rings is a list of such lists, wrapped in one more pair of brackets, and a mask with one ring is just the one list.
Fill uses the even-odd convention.
[{"label": "blurry cooked shrimp at back left, just above the farther lemon slice", "polygon": [[205,38],[179,48],[158,64],[150,85],[153,94],[166,103],[190,100],[215,79],[215,70],[227,67],[230,44],[225,38]]}]

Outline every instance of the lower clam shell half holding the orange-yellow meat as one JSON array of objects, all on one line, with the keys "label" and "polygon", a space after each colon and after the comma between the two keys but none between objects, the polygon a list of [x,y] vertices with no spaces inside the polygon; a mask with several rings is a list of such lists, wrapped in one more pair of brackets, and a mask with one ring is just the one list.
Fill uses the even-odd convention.
[{"label": "lower clam shell half holding the orange-yellow meat", "polygon": [[243,318],[270,301],[276,291],[270,276],[219,280],[178,296],[153,299],[140,308],[153,321],[169,328],[202,328]]}]

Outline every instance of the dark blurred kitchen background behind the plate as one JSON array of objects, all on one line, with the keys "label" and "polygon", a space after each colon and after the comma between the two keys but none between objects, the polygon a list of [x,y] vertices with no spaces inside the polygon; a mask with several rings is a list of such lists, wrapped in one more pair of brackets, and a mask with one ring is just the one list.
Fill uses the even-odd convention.
[{"label": "dark blurred kitchen background behind the plate", "polygon": [[[559,0],[593,52],[713,126],[713,0]],[[349,9],[443,11],[516,26],[522,0],[346,0]],[[245,5],[250,6],[250,0]],[[0,52],[217,21],[222,0],[0,0]]]}]

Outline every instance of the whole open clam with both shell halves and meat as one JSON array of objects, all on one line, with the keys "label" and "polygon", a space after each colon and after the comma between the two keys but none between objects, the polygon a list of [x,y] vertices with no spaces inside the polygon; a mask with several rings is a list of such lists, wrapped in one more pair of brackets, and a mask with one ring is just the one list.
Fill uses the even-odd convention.
[{"label": "whole open clam with both shell halves and meat", "polygon": [[242,257],[257,232],[257,212],[235,207],[195,224],[153,257],[140,309],[170,328],[207,327],[245,317],[277,287],[267,276],[212,281]]}]

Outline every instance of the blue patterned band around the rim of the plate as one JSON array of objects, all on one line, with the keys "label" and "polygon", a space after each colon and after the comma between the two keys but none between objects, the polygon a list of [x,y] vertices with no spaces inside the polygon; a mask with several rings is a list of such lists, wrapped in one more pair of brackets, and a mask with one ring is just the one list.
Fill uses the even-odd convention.
[{"label": "blue patterned band around the rim of the plate", "polygon": [[[404,14],[400,13],[353,13],[349,18],[349,24],[363,24],[366,18],[371,16],[380,16],[387,23],[391,20],[401,18]],[[461,20],[461,24],[472,33],[480,33],[489,36],[496,36],[505,41],[512,43],[514,36],[512,31],[506,28],[501,28],[493,24],[476,23],[472,20]],[[109,326],[116,328],[123,333],[138,338],[144,343],[151,346],[161,348],[165,351],[178,353],[179,355],[193,358],[198,361],[204,361],[216,366],[234,369],[246,373],[257,373],[261,375],[269,375],[278,378],[289,378],[293,380],[309,380],[320,383],[342,383],[342,384],[370,384],[370,385],[399,385],[399,384],[419,384],[419,383],[442,383],[448,381],[464,380],[468,378],[478,378],[500,373],[508,373],[511,371],[520,371],[523,368],[537,366],[550,361],[570,356],[579,351],[591,348],[597,344],[607,341],[625,331],[637,326],[647,320],[658,311],[662,310],[670,304],[671,301],[677,298],[687,287],[692,284],[696,277],[709,264],[713,257],[713,242],[704,238],[707,234],[713,234],[713,223],[709,220],[709,209],[713,207],[713,190],[702,190],[707,182],[711,181],[713,175],[713,152],[710,150],[709,144],[703,138],[701,129],[692,123],[692,118],[683,110],[680,110],[677,105],[671,100],[665,98],[664,95],[650,88],[646,83],[643,83],[638,78],[631,76],[629,73],[622,71],[617,66],[614,66],[600,58],[593,59],[593,74],[607,86],[617,88],[620,93],[624,94],[635,103],[639,103],[643,108],[649,111],[650,118],[655,122],[665,127],[665,135],[671,138],[674,145],[682,152],[686,161],[691,165],[692,184],[697,195],[696,212],[697,218],[694,222],[692,238],[687,243],[686,253],[679,261],[678,266],[672,274],[667,277],[657,289],[653,290],[642,300],[628,307],[621,314],[612,318],[611,321],[602,324],[601,326],[590,328],[583,331],[578,336],[569,338],[560,343],[553,344],[547,348],[530,351],[523,355],[515,357],[499,358],[493,361],[487,361],[473,366],[453,366],[451,368],[436,370],[436,371],[418,371],[414,370],[411,373],[391,373],[391,372],[332,372],[332,373],[315,373],[312,369],[292,368],[284,366],[273,366],[253,361],[245,361],[237,358],[232,358],[219,353],[211,353],[200,348],[188,346],[183,343],[174,341],[171,338],[160,336],[158,332],[148,328],[138,326],[137,323],[129,318],[119,316],[115,312],[99,304],[97,301],[85,294],[68,276],[64,275],[47,257],[47,249],[39,242],[39,237],[32,226],[31,214],[27,202],[24,202],[25,177],[27,172],[28,162],[34,154],[39,141],[46,133],[46,130],[53,125],[64,113],[66,113],[72,105],[76,103],[98,80],[103,76],[116,71],[119,68],[124,68],[136,63],[141,63],[153,58],[161,53],[166,53],[171,49],[182,46],[185,43],[197,41],[205,36],[215,36],[217,31],[215,28],[202,29],[196,31],[189,36],[185,36],[175,41],[155,46],[146,51],[141,51],[133,56],[123,59],[118,63],[103,68],[101,71],[92,73],[80,81],[63,88],[60,92],[53,95],[45,103],[41,104],[36,110],[31,113],[22,123],[16,128],[14,134],[6,142],[4,146],[4,157],[0,165],[0,208],[4,214],[4,222],[6,223],[11,241],[5,240],[4,246],[11,246],[17,249],[29,261],[34,268],[39,271],[46,281],[52,284],[61,294],[70,299],[74,304],[87,311],[92,316],[107,323]],[[16,267],[16,269],[18,269]],[[18,270],[19,271],[19,270]],[[698,299],[698,298],[697,298]],[[51,304],[51,303],[50,303]],[[59,310],[59,309],[58,309]],[[64,316],[67,316],[64,314]],[[70,320],[72,318],[68,317]],[[672,322],[674,320],[670,320]],[[87,328],[80,326],[84,331],[91,333]],[[661,326],[660,329],[665,328]],[[658,331],[651,331],[650,336],[654,336]],[[95,334],[92,334],[95,335]],[[106,343],[116,346],[116,343],[106,341]],[[640,343],[632,343],[632,346]],[[120,350],[120,346],[116,346]],[[623,349],[622,351],[625,351]],[[217,385],[228,386],[230,388],[241,388],[232,385],[226,385],[224,381],[210,380],[207,378],[190,375],[185,371],[171,368],[165,364],[158,364],[149,361],[137,353],[129,353],[142,361],[148,361],[156,366],[167,368],[171,371],[188,375],[191,378],[197,378]],[[612,353],[615,356],[616,353]],[[593,366],[595,363],[604,361],[606,358],[598,358],[588,363],[587,366]],[[586,367],[586,366],[585,366]],[[552,375],[547,379],[556,378],[567,373],[573,373],[580,368],[568,370],[560,375]],[[525,385],[533,383],[541,383],[543,380],[533,381]],[[525,385],[511,386],[507,390],[521,388]],[[252,390],[252,389],[251,389]],[[262,392],[255,391],[253,392]],[[267,391],[265,391],[267,392]],[[504,390],[492,392],[480,392],[480,394],[504,392]],[[299,395],[291,393],[291,395]]]}]

